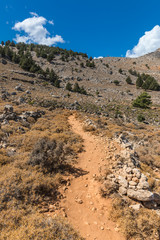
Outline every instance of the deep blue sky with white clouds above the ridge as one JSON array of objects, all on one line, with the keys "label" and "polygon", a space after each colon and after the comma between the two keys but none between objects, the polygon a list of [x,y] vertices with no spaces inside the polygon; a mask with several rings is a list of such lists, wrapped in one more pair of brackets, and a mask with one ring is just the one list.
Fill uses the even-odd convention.
[{"label": "deep blue sky with white clouds above the ridge", "polygon": [[138,57],[160,48],[159,9],[159,0],[0,0],[0,42]]}]

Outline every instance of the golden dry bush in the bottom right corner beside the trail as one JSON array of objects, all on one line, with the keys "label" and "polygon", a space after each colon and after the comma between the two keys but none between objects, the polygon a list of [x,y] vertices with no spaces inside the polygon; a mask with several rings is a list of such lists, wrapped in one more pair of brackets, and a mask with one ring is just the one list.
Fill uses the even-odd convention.
[{"label": "golden dry bush in the bottom right corner beside the trail", "polygon": [[135,211],[119,198],[113,202],[111,217],[120,224],[127,240],[159,239],[160,217],[152,210],[141,208]]}]

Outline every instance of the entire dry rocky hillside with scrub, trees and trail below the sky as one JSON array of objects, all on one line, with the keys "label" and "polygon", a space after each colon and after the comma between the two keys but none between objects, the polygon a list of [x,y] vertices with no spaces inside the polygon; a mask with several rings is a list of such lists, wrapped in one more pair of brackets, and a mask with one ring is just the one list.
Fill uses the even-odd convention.
[{"label": "entire dry rocky hillside with scrub, trees and trail below the sky", "polygon": [[[158,240],[158,84],[159,49],[1,46],[0,239]],[[145,90],[152,104],[137,107]]]}]

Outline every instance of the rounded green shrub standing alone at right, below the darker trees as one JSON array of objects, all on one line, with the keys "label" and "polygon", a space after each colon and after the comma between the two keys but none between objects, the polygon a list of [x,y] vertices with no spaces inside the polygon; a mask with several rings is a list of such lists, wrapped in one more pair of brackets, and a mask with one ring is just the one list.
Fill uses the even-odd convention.
[{"label": "rounded green shrub standing alone at right, below the darker trees", "polygon": [[133,107],[148,108],[151,103],[151,96],[148,93],[143,92],[133,101],[132,105]]}]

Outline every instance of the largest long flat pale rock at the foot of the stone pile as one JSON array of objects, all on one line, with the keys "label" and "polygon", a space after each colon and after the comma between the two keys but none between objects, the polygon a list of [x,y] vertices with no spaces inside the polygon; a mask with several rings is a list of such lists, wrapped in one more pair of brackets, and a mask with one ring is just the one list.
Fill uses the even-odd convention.
[{"label": "largest long flat pale rock at the foot of the stone pile", "polygon": [[148,202],[148,201],[153,201],[154,200],[154,194],[150,191],[147,190],[133,190],[133,189],[128,189],[127,191],[127,196],[129,198],[142,201],[142,202]]}]

